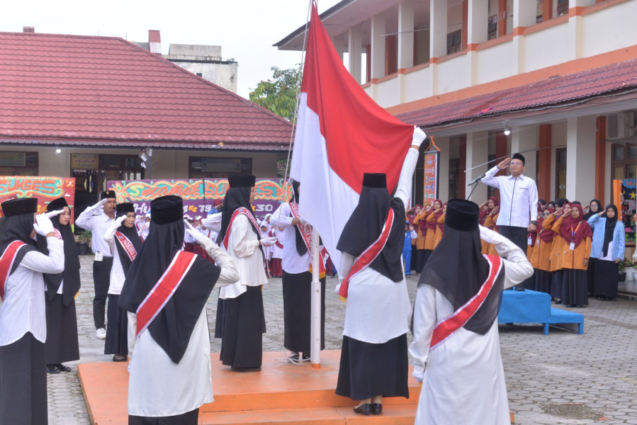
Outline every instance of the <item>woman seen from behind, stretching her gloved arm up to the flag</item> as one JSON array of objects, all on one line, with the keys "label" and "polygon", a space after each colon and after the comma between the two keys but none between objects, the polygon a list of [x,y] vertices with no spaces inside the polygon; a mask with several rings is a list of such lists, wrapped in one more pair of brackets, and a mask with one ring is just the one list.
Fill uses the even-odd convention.
[{"label": "woman seen from behind, stretching her gloved arm up to the flag", "polygon": [[366,416],[382,412],[383,397],[409,398],[411,305],[401,254],[405,208],[425,137],[422,130],[415,129],[394,198],[385,174],[363,175],[359,204],[337,244],[342,252],[339,295],[346,304],[336,393],[359,400],[354,412]]}]

